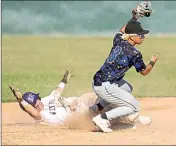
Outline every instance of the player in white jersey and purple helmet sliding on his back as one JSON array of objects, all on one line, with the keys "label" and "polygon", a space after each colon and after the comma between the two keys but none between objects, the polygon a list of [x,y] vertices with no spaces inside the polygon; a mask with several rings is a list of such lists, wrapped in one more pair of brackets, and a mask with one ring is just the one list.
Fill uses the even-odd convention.
[{"label": "player in white jersey and purple helmet sliding on his back", "polygon": [[23,95],[18,89],[12,86],[10,90],[19,102],[20,108],[28,113],[36,122],[42,124],[64,125],[73,113],[83,113],[94,105],[97,100],[95,93],[87,93],[80,97],[61,97],[65,85],[73,76],[72,70],[66,70],[63,79],[49,96],[41,98],[33,92],[26,92]]}]

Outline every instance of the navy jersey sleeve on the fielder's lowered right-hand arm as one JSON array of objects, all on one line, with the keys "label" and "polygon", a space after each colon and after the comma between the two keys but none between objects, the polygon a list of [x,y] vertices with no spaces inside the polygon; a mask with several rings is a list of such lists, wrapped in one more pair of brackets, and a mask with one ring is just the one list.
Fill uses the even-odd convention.
[{"label": "navy jersey sleeve on the fielder's lowered right-hand arm", "polygon": [[143,57],[141,53],[136,54],[133,58],[132,58],[132,63],[136,69],[137,72],[141,72],[143,70],[146,69],[146,65],[143,61]]}]

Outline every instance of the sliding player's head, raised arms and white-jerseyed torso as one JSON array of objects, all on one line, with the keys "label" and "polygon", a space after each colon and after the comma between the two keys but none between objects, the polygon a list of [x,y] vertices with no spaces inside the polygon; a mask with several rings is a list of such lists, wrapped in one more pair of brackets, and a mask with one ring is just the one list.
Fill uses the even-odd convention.
[{"label": "sliding player's head, raised arms and white-jerseyed torso", "polygon": [[[27,112],[34,120],[62,125],[72,109],[69,105],[63,103],[64,100],[62,100],[61,94],[72,75],[72,70],[66,70],[57,88],[44,98],[33,92],[26,92],[22,95],[12,86],[9,87],[19,102],[20,108]],[[59,104],[62,104],[62,106]]]}]

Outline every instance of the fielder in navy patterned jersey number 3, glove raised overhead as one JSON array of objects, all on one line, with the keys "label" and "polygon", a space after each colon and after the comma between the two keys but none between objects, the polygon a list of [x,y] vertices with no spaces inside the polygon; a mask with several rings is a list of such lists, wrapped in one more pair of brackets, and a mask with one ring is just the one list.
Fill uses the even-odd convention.
[{"label": "fielder in navy patterned jersey number 3, glove raised overhead", "polygon": [[136,120],[142,120],[146,124],[151,122],[151,119],[139,119],[139,103],[130,94],[132,86],[124,80],[125,73],[132,66],[141,75],[146,76],[157,62],[158,56],[153,55],[146,65],[141,52],[135,47],[142,44],[145,35],[149,33],[141,27],[137,19],[149,17],[151,13],[149,2],[140,3],[132,11],[132,19],[115,35],[109,56],[93,77],[93,90],[101,100],[90,107],[90,110],[97,112],[102,111],[107,105],[111,106],[108,111],[92,119],[103,132],[112,132],[113,130],[109,128],[110,121],[124,116],[129,117],[131,122]]}]

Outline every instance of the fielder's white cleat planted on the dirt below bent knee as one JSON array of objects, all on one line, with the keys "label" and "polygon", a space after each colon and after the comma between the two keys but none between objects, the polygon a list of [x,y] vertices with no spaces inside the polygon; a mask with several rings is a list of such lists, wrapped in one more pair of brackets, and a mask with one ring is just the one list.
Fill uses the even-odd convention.
[{"label": "fielder's white cleat planted on the dirt below bent knee", "polygon": [[105,133],[112,132],[113,130],[108,128],[110,126],[110,122],[106,119],[101,118],[101,115],[94,117],[92,121]]}]

